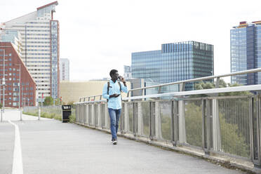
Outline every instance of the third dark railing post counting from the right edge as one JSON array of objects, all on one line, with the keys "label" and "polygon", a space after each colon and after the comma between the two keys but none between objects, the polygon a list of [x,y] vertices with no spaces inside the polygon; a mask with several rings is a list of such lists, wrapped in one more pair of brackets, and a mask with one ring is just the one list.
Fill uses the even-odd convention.
[{"label": "third dark railing post counting from the right edge", "polygon": [[178,101],[171,102],[171,142],[177,145],[178,142]]}]

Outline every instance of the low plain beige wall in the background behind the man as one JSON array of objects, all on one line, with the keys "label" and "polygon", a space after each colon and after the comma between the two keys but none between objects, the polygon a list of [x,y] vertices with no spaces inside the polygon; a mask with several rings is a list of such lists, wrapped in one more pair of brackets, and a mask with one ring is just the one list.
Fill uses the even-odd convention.
[{"label": "low plain beige wall in the background behind the man", "polygon": [[[79,102],[79,98],[88,97],[91,95],[101,95],[103,86],[107,81],[86,81],[86,82],[60,82],[60,96],[62,102]],[[128,89],[131,88],[131,83],[127,82]],[[123,93],[126,97],[126,93]],[[103,98],[102,98],[103,99]]]}]

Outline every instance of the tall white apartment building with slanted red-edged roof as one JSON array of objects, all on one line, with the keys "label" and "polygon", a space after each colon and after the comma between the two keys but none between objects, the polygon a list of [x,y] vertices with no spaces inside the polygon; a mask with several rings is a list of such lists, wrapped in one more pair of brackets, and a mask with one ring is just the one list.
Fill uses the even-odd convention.
[{"label": "tall white apartment building with slanted red-edged roof", "polygon": [[1,24],[1,35],[7,30],[21,34],[22,61],[36,82],[36,93],[41,98],[59,93],[59,21],[53,20],[58,1],[37,8]]}]

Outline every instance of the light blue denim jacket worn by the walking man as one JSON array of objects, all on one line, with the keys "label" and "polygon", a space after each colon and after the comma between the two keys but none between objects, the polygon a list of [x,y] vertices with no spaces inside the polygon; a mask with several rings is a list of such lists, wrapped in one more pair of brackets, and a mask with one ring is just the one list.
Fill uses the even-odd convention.
[{"label": "light blue denim jacket worn by the walking man", "polygon": [[[122,82],[121,83],[121,90],[124,93],[128,93],[127,86],[124,86]],[[107,94],[107,86],[108,83],[105,83],[105,86],[103,86],[102,90],[102,98],[108,99],[108,108],[112,109],[121,109],[121,95],[119,95],[118,98],[109,98],[109,95],[121,94],[120,86],[118,81],[115,81],[115,83],[112,80],[109,80],[109,94]]]}]

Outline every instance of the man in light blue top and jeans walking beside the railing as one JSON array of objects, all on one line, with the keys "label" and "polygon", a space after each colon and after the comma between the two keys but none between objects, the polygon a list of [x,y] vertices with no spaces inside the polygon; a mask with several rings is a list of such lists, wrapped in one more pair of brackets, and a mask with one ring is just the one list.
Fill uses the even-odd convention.
[{"label": "man in light blue top and jeans walking beside the railing", "polygon": [[[116,69],[109,72],[110,79],[102,90],[102,97],[107,99],[109,118],[111,123],[112,143],[116,145],[117,131],[119,128],[119,118],[121,116],[121,92],[128,93],[126,81],[122,76],[119,76]],[[117,81],[119,79],[119,81]]]}]

